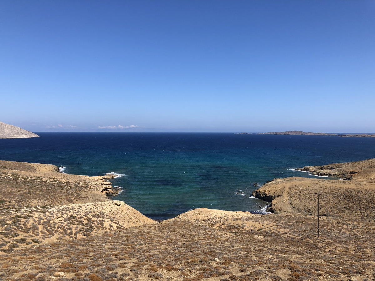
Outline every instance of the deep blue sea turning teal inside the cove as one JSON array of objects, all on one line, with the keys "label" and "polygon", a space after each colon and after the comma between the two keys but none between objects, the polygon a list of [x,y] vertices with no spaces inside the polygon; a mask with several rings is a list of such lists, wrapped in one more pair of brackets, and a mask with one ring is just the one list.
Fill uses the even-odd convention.
[{"label": "deep blue sea turning teal inside the cove", "polygon": [[273,178],[306,176],[297,167],[375,158],[375,138],[234,133],[37,133],[0,139],[0,160],[64,166],[96,176],[113,172],[114,197],[154,219],[193,208],[256,212],[252,197]]}]

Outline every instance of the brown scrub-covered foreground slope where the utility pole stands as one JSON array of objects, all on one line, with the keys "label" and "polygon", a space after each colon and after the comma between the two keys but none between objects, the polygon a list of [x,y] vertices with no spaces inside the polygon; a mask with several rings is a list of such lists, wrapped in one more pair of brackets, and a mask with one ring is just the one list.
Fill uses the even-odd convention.
[{"label": "brown scrub-covered foreground slope where the utility pole stands", "polygon": [[7,280],[374,278],[373,224],[325,217],[318,239],[312,216],[228,212],[213,219],[216,210],[206,210],[208,223],[172,219],[16,249],[1,257],[2,271]]}]

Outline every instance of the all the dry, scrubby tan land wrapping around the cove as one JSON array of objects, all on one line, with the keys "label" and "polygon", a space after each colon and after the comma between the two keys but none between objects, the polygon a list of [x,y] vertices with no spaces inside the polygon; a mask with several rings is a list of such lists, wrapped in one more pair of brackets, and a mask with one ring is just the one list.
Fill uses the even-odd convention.
[{"label": "all the dry, scrubby tan land wrapping around the cove", "polygon": [[275,179],[255,194],[277,214],[201,208],[162,222],[109,200],[107,179],[0,161],[0,280],[375,279],[371,175]]}]

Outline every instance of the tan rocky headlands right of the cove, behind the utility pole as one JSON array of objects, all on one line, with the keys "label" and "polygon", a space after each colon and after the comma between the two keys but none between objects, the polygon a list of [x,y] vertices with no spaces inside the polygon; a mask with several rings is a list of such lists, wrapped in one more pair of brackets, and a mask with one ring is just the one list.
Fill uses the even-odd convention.
[{"label": "tan rocky headlands right of the cove, behind the utility pole", "polygon": [[[304,215],[317,215],[315,197],[317,193],[324,193],[327,198],[331,198],[331,202],[335,203],[336,210],[329,210],[323,205],[322,214],[332,214],[335,216],[347,217],[348,210],[352,214],[362,216],[360,210],[362,208],[353,208],[353,206],[341,206],[345,203],[358,200],[362,203],[372,205],[375,198],[375,158],[363,161],[349,163],[335,163],[324,166],[306,166],[296,170],[310,172],[313,175],[342,178],[344,181],[334,181],[327,179],[311,179],[311,178],[275,178],[267,182],[261,188],[253,191],[253,196],[258,199],[270,202],[269,211],[275,214],[296,213]],[[367,194],[361,195],[364,191]],[[333,193],[344,198],[343,194],[351,194],[345,202],[333,198]],[[358,204],[354,204],[358,205]],[[350,208],[349,208],[350,207]],[[370,217],[375,220],[374,214],[367,214],[365,218]]]}]

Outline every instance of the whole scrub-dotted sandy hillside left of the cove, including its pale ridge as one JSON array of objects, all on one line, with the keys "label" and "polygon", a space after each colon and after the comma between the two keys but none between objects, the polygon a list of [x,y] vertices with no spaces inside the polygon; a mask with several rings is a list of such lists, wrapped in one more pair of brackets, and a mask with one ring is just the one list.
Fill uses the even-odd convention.
[{"label": "whole scrub-dotted sandy hillside left of the cove, including its pale ridge", "polygon": [[108,199],[114,175],[81,176],[49,164],[0,161],[0,253],[155,223]]}]

